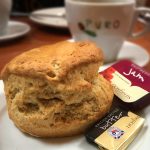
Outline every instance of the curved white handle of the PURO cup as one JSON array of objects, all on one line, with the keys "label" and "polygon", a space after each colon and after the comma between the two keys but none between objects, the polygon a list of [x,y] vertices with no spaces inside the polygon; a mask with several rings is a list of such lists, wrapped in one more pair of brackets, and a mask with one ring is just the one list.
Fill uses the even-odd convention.
[{"label": "curved white handle of the PURO cup", "polygon": [[[139,18],[139,15],[141,13],[144,13],[144,14],[145,13],[150,13],[150,9],[146,8],[146,7],[138,7],[138,8],[136,8],[135,11],[136,11],[135,18],[134,18],[134,21],[132,23],[131,30],[130,30],[130,33],[129,33],[129,37],[131,37],[131,38],[138,38],[138,37],[142,36],[143,34],[145,34],[146,32],[148,32],[150,30],[150,22],[146,21],[145,19]],[[142,24],[144,24],[144,29],[139,31],[139,32],[133,33],[132,30],[133,30],[133,27],[134,27],[135,22],[137,20],[139,22],[141,22]]]}]

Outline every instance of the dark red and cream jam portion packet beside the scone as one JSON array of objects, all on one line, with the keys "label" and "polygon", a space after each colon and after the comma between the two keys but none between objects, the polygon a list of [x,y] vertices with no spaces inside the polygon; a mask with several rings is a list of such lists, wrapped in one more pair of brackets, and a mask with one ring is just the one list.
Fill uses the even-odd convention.
[{"label": "dark red and cream jam portion packet beside the scone", "polygon": [[100,72],[113,86],[119,104],[139,110],[150,104],[150,73],[129,60],[121,60]]}]

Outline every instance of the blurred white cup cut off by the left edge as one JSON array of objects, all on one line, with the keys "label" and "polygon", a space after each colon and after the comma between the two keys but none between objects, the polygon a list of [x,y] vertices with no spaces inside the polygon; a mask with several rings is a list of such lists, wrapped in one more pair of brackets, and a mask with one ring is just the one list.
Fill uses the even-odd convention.
[{"label": "blurred white cup cut off by the left edge", "polygon": [[10,10],[11,0],[0,0],[0,36],[6,33]]}]

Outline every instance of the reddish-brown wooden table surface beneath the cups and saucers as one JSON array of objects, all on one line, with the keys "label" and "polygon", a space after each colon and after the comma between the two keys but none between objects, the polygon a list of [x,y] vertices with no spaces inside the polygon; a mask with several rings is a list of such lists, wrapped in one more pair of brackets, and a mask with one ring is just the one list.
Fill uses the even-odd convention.
[{"label": "reddish-brown wooden table surface beneath the cups and saucers", "polygon": [[[68,29],[57,29],[37,25],[27,17],[15,17],[11,20],[28,23],[31,26],[31,31],[22,38],[0,43],[0,71],[7,62],[24,51],[71,38]],[[141,28],[142,25],[138,23],[135,30],[140,30]],[[129,40],[142,46],[150,54],[150,32],[138,39]],[[144,68],[150,72],[150,62]]]}]

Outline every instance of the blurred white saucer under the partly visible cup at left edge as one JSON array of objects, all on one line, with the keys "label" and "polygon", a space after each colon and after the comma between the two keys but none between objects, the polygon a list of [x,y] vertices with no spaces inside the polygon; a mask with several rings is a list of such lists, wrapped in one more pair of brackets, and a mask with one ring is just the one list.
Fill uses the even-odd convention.
[{"label": "blurred white saucer under the partly visible cup at left edge", "polygon": [[18,21],[9,21],[6,34],[0,35],[0,42],[21,37],[29,31],[30,26],[28,24]]}]

